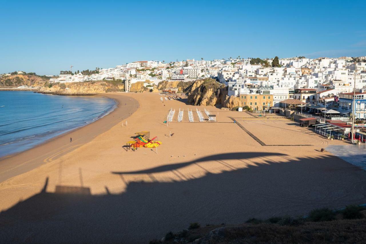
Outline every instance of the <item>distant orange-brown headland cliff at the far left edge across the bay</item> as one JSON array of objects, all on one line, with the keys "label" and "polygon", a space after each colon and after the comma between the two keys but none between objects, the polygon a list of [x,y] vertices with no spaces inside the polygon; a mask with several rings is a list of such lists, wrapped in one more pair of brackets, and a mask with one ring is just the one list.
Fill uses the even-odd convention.
[{"label": "distant orange-brown headland cliff at the far left edge across the bay", "polygon": [[44,86],[49,77],[38,75],[10,75],[0,78],[1,87]]}]

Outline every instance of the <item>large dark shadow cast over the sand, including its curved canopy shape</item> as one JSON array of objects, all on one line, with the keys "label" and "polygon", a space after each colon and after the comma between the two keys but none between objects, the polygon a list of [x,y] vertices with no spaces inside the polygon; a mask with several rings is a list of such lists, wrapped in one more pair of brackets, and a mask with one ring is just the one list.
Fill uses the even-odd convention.
[{"label": "large dark shadow cast over the sand, including its curved canopy shape", "polygon": [[[148,174],[153,179],[130,182],[121,194],[106,188],[105,195],[90,195],[88,187],[76,186],[57,186],[59,191],[47,192],[46,179],[38,194],[0,213],[0,242],[148,243],[191,222],[239,224],[251,217],[298,215],[317,207],[366,201],[365,172],[336,157],[274,162],[272,156],[287,159],[281,153],[226,153],[135,172],[111,172],[121,176],[121,187],[124,174]],[[256,163],[258,157],[265,162]],[[225,162],[228,159],[253,165],[235,168]],[[210,173],[200,165],[208,161],[225,165],[228,171]],[[193,164],[205,170],[205,176],[188,179],[179,172]],[[159,182],[153,177],[169,171],[181,180]]]}]

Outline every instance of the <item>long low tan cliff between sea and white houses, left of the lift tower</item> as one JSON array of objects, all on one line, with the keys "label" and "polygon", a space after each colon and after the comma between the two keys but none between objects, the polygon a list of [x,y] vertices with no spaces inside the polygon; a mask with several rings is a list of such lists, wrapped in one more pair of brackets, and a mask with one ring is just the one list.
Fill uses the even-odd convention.
[{"label": "long low tan cliff between sea and white houses, left of the lift tower", "polygon": [[95,95],[98,93],[119,91],[124,91],[124,83],[120,80],[46,83],[40,90],[41,93],[57,95]]}]

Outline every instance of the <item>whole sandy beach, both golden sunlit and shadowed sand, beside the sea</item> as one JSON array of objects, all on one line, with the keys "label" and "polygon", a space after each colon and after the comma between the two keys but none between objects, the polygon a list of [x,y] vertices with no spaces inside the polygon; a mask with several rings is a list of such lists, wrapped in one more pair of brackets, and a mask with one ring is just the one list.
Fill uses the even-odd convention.
[{"label": "whole sandy beach, both golden sunlit and shadowed sand, beside the sea", "polygon": [[[191,222],[239,224],[366,202],[366,172],[319,151],[345,142],[291,120],[163,103],[158,94],[107,96],[119,101],[110,115],[0,161],[1,242],[147,243]],[[167,125],[170,108],[176,112]],[[199,123],[196,108],[218,122]],[[122,146],[138,131],[163,144],[126,151]],[[90,195],[62,193],[70,187]]]}]

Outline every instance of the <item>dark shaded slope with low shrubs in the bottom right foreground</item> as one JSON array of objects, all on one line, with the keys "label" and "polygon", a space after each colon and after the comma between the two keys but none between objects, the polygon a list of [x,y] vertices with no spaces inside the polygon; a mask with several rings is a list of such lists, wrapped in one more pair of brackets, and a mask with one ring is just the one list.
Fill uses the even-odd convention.
[{"label": "dark shaded slope with low shrubs in the bottom right foreground", "polygon": [[301,217],[250,218],[240,225],[191,223],[188,229],[168,232],[158,243],[365,243],[366,208],[314,209]]}]

